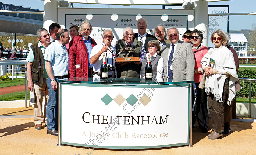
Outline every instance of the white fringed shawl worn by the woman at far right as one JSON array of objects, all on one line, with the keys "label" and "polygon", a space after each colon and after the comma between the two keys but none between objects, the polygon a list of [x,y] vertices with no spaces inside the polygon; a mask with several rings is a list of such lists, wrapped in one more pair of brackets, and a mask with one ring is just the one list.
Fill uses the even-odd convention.
[{"label": "white fringed shawl worn by the woman at far right", "polygon": [[[236,65],[232,52],[223,46],[222,48],[212,47],[207,54],[201,60],[202,73],[204,72],[204,67],[208,67],[210,58],[215,60],[214,69],[222,70],[227,72],[229,78],[229,94],[228,94],[228,105],[231,106],[231,101],[236,96],[235,82],[238,80],[238,75],[236,73]],[[218,102],[223,102],[222,94],[224,82],[227,75],[223,74],[212,74],[206,76],[205,81],[205,92],[211,92]]]}]

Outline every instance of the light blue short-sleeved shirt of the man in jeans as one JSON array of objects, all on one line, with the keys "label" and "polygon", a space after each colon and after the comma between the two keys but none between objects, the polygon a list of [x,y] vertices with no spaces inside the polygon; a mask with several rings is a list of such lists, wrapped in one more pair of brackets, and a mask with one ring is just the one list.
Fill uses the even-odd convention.
[{"label": "light blue short-sleeved shirt of the man in jeans", "polygon": [[55,42],[51,43],[45,50],[45,60],[51,62],[53,76],[64,76],[69,71],[69,54],[66,46]]}]

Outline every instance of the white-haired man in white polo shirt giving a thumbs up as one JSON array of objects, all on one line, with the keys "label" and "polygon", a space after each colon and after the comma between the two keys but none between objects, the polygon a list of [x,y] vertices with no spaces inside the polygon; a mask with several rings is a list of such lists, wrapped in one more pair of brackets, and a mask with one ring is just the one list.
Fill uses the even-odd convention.
[{"label": "white-haired man in white polo shirt giving a thumbs up", "polygon": [[103,31],[103,42],[93,47],[90,54],[90,63],[93,66],[93,77],[100,78],[100,69],[103,59],[103,53],[105,52],[106,62],[108,64],[108,77],[116,77],[115,62],[116,62],[116,49],[111,46],[111,42],[114,38],[112,29],[106,29]]}]

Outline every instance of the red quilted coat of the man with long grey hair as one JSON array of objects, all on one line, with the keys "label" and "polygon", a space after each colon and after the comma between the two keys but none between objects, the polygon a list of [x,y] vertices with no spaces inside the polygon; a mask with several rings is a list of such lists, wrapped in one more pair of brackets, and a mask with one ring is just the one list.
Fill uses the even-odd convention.
[{"label": "red quilted coat of the man with long grey hair", "polygon": [[[91,38],[92,47],[97,43]],[[74,37],[69,43],[69,77],[88,78],[88,52],[82,35]],[[75,69],[75,65],[80,65]]]}]

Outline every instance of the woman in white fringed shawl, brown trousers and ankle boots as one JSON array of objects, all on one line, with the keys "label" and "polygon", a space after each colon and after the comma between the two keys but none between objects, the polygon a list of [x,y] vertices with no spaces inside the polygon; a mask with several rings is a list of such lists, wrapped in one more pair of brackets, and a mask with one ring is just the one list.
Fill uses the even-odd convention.
[{"label": "woman in white fringed shawl, brown trousers and ankle boots", "polygon": [[231,106],[235,98],[235,82],[238,80],[232,52],[223,46],[227,41],[221,30],[212,33],[211,42],[215,45],[201,60],[202,73],[205,72],[205,92],[208,94],[208,106],[213,132],[208,139],[222,138],[224,130],[224,102]]}]

